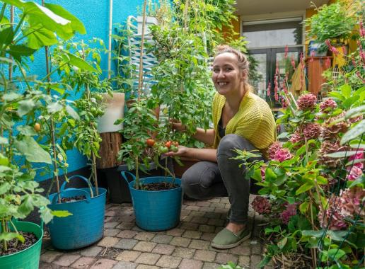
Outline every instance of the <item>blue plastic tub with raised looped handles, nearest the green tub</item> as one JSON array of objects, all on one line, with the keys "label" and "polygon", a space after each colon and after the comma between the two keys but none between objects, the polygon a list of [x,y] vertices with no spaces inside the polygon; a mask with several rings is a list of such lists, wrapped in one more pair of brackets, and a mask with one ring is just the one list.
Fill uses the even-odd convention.
[{"label": "blue plastic tub with raised looped handles, nearest the green tub", "polygon": [[[103,238],[105,216],[105,188],[98,188],[99,195],[95,196],[96,188],[91,188],[89,181],[83,176],[71,176],[69,180],[79,178],[88,183],[89,188],[66,188],[64,182],[59,193],[50,195],[51,210],[66,210],[71,213],[68,217],[54,217],[47,224],[50,229],[52,245],[59,249],[76,249],[89,246]],[[93,193],[91,193],[91,191]],[[85,196],[86,199],[73,202],[57,203],[61,198]]]}]

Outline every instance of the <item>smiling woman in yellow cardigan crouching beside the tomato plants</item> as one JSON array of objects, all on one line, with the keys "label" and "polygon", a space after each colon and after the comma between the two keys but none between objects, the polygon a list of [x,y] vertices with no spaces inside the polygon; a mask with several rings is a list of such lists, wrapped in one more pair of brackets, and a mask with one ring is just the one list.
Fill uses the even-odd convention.
[{"label": "smiling woman in yellow cardigan crouching beside the tomato plants", "polygon": [[[248,84],[248,60],[241,52],[228,46],[218,47],[213,62],[212,79],[216,88],[212,114],[214,129],[197,128],[195,138],[213,149],[180,146],[168,156],[199,159],[182,175],[184,193],[193,199],[206,200],[228,195],[231,203],[229,222],[213,239],[215,248],[233,248],[250,238],[248,198],[250,181],[245,179],[245,167],[231,159],[233,149],[260,150],[276,139],[274,117],[269,105],[251,91]],[[185,126],[172,122],[175,130]]]}]

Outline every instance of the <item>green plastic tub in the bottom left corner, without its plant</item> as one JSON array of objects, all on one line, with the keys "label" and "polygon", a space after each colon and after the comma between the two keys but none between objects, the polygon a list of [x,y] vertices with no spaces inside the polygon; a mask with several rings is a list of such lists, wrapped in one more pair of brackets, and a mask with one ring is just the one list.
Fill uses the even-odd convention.
[{"label": "green plastic tub in the bottom left corner, without its plant", "polygon": [[[43,238],[43,222],[40,226],[33,222],[18,222],[13,219],[13,224],[18,231],[26,231],[35,234],[37,241],[29,248],[23,249],[16,253],[0,256],[0,268],[6,269],[35,269],[40,263],[40,248]],[[13,227],[11,227],[13,230]]]}]

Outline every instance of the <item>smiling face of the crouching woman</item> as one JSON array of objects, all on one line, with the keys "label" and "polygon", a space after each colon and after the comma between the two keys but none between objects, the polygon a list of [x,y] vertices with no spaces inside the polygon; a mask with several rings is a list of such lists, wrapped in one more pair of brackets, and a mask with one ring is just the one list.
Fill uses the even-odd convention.
[{"label": "smiling face of the crouching woman", "polygon": [[245,71],[238,68],[237,56],[224,52],[214,58],[212,79],[221,95],[238,93],[245,79]]}]

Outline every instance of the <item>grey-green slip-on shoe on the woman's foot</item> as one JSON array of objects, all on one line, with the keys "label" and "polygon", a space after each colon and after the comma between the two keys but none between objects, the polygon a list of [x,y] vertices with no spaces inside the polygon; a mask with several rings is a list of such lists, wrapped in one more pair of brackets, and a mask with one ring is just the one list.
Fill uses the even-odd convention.
[{"label": "grey-green slip-on shoe on the woman's foot", "polygon": [[238,234],[234,234],[232,231],[224,228],[223,230],[219,231],[218,234],[214,237],[211,246],[214,248],[234,248],[238,246],[243,241],[249,239],[251,236],[251,231],[246,227],[242,231],[239,231]]}]

